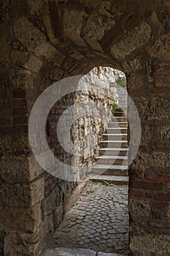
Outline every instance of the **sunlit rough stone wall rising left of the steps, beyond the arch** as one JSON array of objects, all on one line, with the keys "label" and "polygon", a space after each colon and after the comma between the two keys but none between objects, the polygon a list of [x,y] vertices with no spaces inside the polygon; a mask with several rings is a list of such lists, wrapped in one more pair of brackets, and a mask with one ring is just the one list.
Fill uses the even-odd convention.
[{"label": "sunlit rough stone wall rising left of the steps, beyond the arch", "polygon": [[90,173],[94,157],[98,155],[102,134],[111,119],[112,104],[115,102],[115,91],[109,87],[111,79],[115,79],[111,68],[95,67],[77,86],[75,103],[79,105],[75,112],[76,116],[82,117],[74,122],[72,139],[82,157],[74,157],[72,165],[87,166],[82,176]]}]

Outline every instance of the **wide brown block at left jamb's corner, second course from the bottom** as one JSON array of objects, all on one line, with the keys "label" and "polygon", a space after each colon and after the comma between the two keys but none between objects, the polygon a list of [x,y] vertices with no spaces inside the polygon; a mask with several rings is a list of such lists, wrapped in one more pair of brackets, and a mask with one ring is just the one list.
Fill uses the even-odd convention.
[{"label": "wide brown block at left jamb's corner, second course from the bottom", "polygon": [[41,222],[41,206],[32,208],[0,208],[0,227],[15,232],[35,232]]}]

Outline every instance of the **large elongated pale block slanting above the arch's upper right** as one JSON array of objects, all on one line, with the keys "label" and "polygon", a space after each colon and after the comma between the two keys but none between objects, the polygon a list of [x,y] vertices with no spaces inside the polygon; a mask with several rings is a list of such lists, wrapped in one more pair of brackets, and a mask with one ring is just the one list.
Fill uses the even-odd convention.
[{"label": "large elongated pale block slanting above the arch's upper right", "polygon": [[[134,50],[142,46],[150,39],[151,28],[146,22],[140,23],[131,32],[128,32],[123,39],[115,43],[111,48],[111,53],[117,59],[124,59]],[[128,45],[128,48],[127,48]]]}]

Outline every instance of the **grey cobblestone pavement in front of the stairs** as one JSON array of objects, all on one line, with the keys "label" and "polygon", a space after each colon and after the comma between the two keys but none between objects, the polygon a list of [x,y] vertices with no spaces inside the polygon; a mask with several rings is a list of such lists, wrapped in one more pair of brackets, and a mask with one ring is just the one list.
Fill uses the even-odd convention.
[{"label": "grey cobblestone pavement in front of the stairs", "polygon": [[56,247],[128,255],[128,186],[91,182],[47,246]]}]

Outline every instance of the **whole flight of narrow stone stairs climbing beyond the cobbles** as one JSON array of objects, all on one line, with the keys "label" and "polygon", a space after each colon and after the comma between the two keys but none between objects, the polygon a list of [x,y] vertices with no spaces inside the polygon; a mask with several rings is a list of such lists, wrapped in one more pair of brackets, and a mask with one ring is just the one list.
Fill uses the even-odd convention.
[{"label": "whole flight of narrow stone stairs climbing beyond the cobbles", "polygon": [[126,113],[118,108],[107,133],[100,143],[99,156],[92,167],[91,180],[128,184],[128,121]]}]

